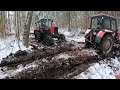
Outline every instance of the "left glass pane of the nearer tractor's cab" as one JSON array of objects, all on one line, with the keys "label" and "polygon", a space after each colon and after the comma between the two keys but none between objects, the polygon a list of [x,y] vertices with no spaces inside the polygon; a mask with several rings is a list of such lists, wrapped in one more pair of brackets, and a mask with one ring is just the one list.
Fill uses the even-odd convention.
[{"label": "left glass pane of the nearer tractor's cab", "polygon": [[91,29],[102,29],[102,17],[94,17],[91,20]]}]

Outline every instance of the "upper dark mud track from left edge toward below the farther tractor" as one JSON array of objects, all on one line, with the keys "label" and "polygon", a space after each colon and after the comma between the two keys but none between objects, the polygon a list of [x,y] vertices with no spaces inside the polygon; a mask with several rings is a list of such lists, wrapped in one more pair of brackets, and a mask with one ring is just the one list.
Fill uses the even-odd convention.
[{"label": "upper dark mud track from left edge toward below the farther tractor", "polygon": [[62,43],[61,45],[54,48],[45,47],[42,49],[38,49],[37,51],[35,50],[31,53],[27,53],[26,51],[18,51],[14,55],[9,55],[8,57],[4,58],[1,61],[0,66],[3,67],[7,65],[18,65],[24,62],[39,60],[41,58],[49,56],[53,57],[56,54],[73,50],[74,47],[72,46],[72,44]]}]

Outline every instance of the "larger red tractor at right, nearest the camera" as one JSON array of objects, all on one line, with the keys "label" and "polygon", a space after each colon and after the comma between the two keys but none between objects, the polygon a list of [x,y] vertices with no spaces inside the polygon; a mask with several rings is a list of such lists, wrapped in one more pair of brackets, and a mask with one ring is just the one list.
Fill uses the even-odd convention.
[{"label": "larger red tractor at right, nearest the camera", "polygon": [[115,17],[99,14],[91,17],[90,28],[85,32],[85,47],[94,47],[102,54],[107,55],[113,46],[119,45],[120,33],[118,32]]}]

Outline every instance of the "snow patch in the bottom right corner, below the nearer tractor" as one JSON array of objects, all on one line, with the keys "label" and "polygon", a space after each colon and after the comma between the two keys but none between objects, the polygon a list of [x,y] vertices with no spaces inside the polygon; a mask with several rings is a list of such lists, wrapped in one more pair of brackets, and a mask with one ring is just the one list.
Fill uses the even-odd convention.
[{"label": "snow patch in the bottom right corner, below the nearer tractor", "polygon": [[91,65],[85,72],[74,77],[74,79],[116,79],[120,74],[120,59],[110,61],[104,60]]}]

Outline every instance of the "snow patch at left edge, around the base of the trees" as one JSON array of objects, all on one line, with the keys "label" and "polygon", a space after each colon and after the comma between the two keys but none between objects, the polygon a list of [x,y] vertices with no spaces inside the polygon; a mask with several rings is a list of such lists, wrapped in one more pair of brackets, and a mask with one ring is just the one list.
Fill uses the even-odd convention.
[{"label": "snow patch at left edge, around the base of the trees", "polygon": [[[20,46],[20,48],[19,48]],[[22,41],[16,41],[14,35],[6,37],[6,39],[0,38],[0,62],[2,58],[8,56],[10,53],[15,53],[18,50],[31,50],[30,47],[26,48]]]}]

